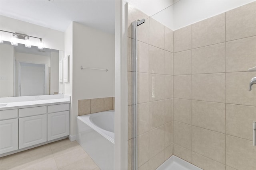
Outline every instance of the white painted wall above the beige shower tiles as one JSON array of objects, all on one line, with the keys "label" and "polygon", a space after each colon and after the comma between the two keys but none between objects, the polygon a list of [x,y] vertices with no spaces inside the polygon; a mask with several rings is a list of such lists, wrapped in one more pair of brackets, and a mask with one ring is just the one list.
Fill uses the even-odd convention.
[{"label": "white painted wall above the beige shower tiles", "polygon": [[[172,30],[222,14],[255,0],[125,0]],[[140,18],[138,18],[140,19]]]}]

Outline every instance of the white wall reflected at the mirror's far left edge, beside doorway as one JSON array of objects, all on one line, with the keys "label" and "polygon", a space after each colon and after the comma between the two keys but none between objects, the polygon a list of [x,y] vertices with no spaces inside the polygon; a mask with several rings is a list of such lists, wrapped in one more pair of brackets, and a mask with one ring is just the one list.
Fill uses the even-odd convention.
[{"label": "white wall reflected at the mirror's far left edge, beside doorway", "polygon": [[14,48],[12,45],[0,44],[0,97],[14,96]]}]

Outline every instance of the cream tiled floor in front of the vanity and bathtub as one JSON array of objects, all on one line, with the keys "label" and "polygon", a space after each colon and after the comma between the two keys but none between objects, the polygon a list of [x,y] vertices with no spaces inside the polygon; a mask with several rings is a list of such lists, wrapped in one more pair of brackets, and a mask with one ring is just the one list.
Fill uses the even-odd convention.
[{"label": "cream tiled floor in front of the vanity and bathtub", "polygon": [[0,170],[100,170],[80,145],[63,139],[0,158]]}]

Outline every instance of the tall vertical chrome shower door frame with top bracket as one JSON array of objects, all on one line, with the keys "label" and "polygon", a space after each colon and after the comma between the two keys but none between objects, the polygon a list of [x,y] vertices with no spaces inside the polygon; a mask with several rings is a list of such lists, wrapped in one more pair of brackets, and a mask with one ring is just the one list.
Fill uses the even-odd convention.
[{"label": "tall vertical chrome shower door frame with top bracket", "polygon": [[133,116],[133,159],[132,170],[138,170],[137,152],[137,27],[145,22],[145,19],[132,22],[132,116]]}]

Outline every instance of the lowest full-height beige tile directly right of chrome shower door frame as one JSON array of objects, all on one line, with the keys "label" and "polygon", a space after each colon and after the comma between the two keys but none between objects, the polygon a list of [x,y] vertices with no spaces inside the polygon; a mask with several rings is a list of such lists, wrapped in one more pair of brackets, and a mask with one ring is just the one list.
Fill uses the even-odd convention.
[{"label": "lowest full-height beige tile directly right of chrome shower door frame", "polygon": [[148,147],[149,147],[148,133],[138,136],[138,167],[142,166],[149,160]]}]

